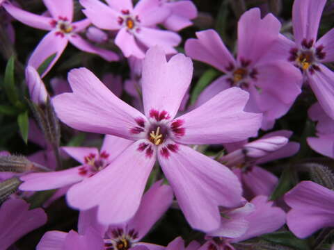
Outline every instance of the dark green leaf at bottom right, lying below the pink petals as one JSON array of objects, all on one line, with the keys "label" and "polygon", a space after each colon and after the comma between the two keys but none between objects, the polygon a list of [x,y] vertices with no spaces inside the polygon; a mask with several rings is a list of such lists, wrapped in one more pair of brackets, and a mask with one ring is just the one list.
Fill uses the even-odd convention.
[{"label": "dark green leaf at bottom right, lying below the pink petals", "polygon": [[296,238],[296,236],[294,236],[289,231],[269,233],[262,235],[261,238],[269,242],[274,242],[276,244],[282,244],[287,247],[293,247],[294,249],[301,249],[301,250],[310,249],[307,240]]}]

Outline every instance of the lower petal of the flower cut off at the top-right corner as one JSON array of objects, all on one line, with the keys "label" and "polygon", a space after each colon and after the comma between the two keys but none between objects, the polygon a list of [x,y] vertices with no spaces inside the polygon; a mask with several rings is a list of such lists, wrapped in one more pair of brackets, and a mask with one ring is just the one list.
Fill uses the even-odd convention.
[{"label": "lower petal of the flower cut off at the top-right corner", "polygon": [[315,96],[325,113],[334,119],[334,72],[324,65],[319,65],[319,68],[319,72],[308,74],[310,87],[315,92]]}]

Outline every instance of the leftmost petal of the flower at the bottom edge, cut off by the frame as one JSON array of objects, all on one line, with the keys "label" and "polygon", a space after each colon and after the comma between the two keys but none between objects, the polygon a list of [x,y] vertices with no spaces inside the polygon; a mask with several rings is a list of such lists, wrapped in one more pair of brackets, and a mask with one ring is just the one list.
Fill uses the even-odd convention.
[{"label": "leftmost petal of the flower at the bottom edge, cut off by the frame", "polygon": [[38,242],[36,250],[63,250],[67,233],[61,231],[49,231]]}]

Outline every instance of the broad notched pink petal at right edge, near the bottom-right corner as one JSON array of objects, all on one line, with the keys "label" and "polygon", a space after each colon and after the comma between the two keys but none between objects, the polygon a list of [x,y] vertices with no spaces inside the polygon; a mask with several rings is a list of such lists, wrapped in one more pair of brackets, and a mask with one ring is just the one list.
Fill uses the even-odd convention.
[{"label": "broad notched pink petal at right edge, near the bottom-right corner", "polygon": [[287,213],[287,226],[298,238],[334,226],[333,190],[312,181],[302,181],[285,194],[284,200],[291,207]]}]

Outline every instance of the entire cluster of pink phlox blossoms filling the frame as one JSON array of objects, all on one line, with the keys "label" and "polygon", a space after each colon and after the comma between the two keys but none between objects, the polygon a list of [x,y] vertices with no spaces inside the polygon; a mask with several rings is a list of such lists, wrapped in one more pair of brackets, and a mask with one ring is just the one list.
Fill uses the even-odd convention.
[{"label": "entire cluster of pink phlox blossoms filling the frame", "polygon": [[[325,65],[334,62],[334,28],[317,40],[326,0],[294,1],[293,40],[280,34],[274,15],[262,18],[259,8],[244,12],[236,58],[212,29],[185,41],[186,56],[177,53],[182,40],[177,31],[198,15],[189,0],[139,0],[136,6],[132,0],[105,1],[79,0],[87,18],[76,22],[73,0],[43,0],[47,11],[42,15],[0,1],[14,19],[49,31],[26,66],[39,126],[30,122],[29,140],[43,150],[25,159],[26,171],[0,172],[3,182],[13,176],[20,180],[19,193],[0,208],[0,249],[47,222],[42,208],[28,210],[19,199],[29,197],[27,191],[56,190],[45,206],[65,195],[68,206],[80,211],[77,231],[49,231],[38,250],[228,250],[285,223],[298,238],[334,226],[334,191],[328,187],[301,181],[283,199],[269,199],[278,177],[259,165],[293,156],[299,143],[289,142],[287,130],[257,138],[260,128],[268,131],[288,113],[307,84],[319,101],[309,110],[318,123],[317,138],[308,138],[308,144],[334,158],[334,72]],[[120,50],[102,48],[106,41]],[[109,62],[127,60],[131,78],[125,90],[134,99],[131,105],[120,99],[120,77],[106,74],[100,81],[84,67],[68,73],[70,88],[52,79],[50,97],[42,77],[68,42]],[[186,105],[191,59],[223,75]],[[77,131],[105,135],[102,147],[59,147],[57,119]],[[224,153],[205,155],[199,145],[211,144],[222,144]],[[12,156],[1,154],[10,164]],[[79,165],[61,168],[59,162],[68,156]],[[180,237],[167,247],[141,242],[172,203],[191,228],[205,234],[204,241],[187,247]]]}]

